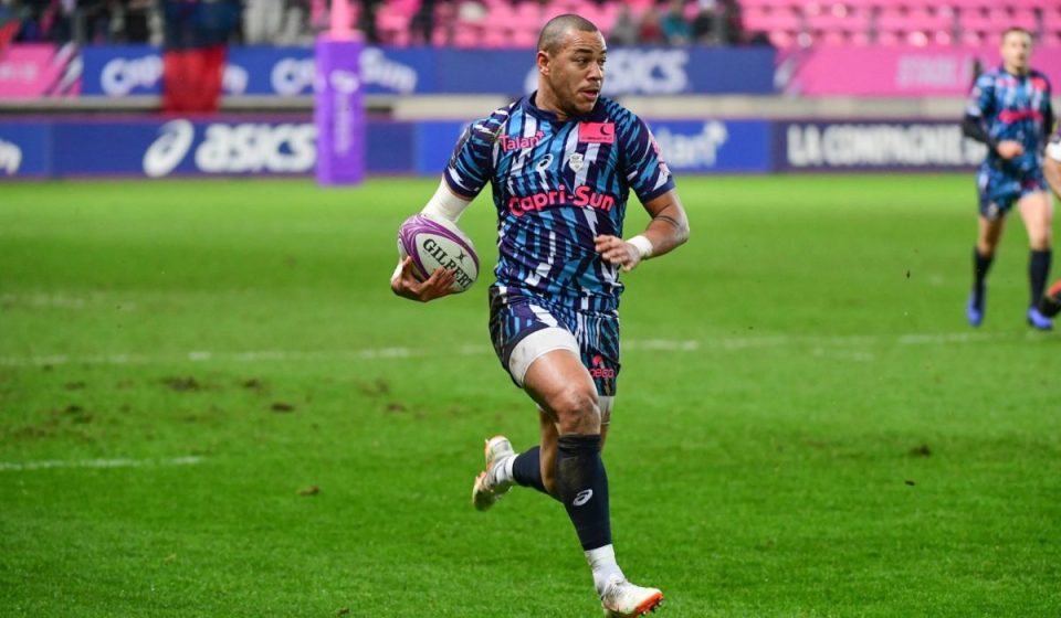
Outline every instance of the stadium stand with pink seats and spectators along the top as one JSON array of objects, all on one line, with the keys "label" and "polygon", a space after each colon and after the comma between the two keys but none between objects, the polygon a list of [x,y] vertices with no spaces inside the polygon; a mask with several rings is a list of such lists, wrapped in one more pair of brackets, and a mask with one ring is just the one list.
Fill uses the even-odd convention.
[{"label": "stadium stand with pink seats and spectators along the top", "polygon": [[[165,4],[164,0],[162,4]],[[327,25],[326,0],[242,0],[244,30],[259,21],[258,12],[284,11],[286,34],[273,43],[311,44]],[[369,43],[408,46],[449,45],[472,49],[527,47],[550,17],[578,12],[606,33],[616,24],[626,4],[637,21],[661,14],[666,0],[354,0],[351,22]],[[0,36],[15,41],[55,41],[63,38],[84,44],[144,40],[124,29],[149,0],[46,2],[9,0],[2,4]],[[70,14],[44,7],[73,7]],[[105,12],[101,7],[106,7]],[[157,4],[155,4],[157,11]],[[263,9],[264,8],[264,9]],[[710,13],[718,31],[695,42],[708,44],[767,43],[776,47],[815,45],[991,45],[1012,25],[1032,32],[1040,45],[1061,45],[1061,2],[1058,0],[689,0],[683,15],[689,23]],[[155,30],[161,15],[136,20]],[[12,20],[13,18],[13,20]],[[109,26],[88,28],[99,19]],[[62,25],[64,20],[69,23]],[[13,34],[13,23],[21,26]],[[277,23],[280,20],[275,20]],[[4,23],[6,22],[6,23]],[[296,23],[297,22],[297,23]],[[141,26],[146,29],[146,25]],[[96,32],[85,38],[86,32]],[[300,35],[301,33],[301,35]],[[78,40],[78,36],[82,39]],[[241,34],[237,33],[237,38]],[[158,36],[156,35],[156,43]],[[270,41],[253,42],[269,43]],[[237,41],[239,42],[239,41]],[[249,41],[250,42],[250,41]]]}]

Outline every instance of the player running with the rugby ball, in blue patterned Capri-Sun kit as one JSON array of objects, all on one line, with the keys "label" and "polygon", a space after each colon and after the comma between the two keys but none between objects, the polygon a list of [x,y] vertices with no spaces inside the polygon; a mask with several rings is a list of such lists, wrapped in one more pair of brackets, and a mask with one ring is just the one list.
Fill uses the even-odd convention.
[{"label": "player running with the rugby ball, in blue patterned Capri-Sun kit", "polygon": [[[514,484],[561,502],[601,606],[629,617],[654,610],[663,594],[631,584],[612,548],[601,449],[619,374],[619,271],[684,243],[689,223],[648,126],[600,95],[606,56],[591,22],[550,20],[538,38],[538,89],[471,124],[424,212],[455,222],[490,183],[500,254],[490,334],[538,407],[538,446],[516,454],[504,436],[486,440],[472,503],[486,510]],[[623,239],[631,189],[651,221]],[[431,300],[451,281],[441,269],[417,281],[410,258],[391,289]]]}]

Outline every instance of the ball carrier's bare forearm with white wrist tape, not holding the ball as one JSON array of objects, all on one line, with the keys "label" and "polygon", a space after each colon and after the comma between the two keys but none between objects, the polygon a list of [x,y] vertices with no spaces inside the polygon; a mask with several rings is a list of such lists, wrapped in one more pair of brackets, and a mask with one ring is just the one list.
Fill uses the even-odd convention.
[{"label": "ball carrier's bare forearm with white wrist tape, not holding the ball", "polygon": [[652,216],[644,232],[623,241],[617,236],[601,235],[593,241],[597,253],[623,270],[632,270],[650,256],[670,253],[689,239],[689,217],[677,196],[677,191],[649,200],[644,210]]}]

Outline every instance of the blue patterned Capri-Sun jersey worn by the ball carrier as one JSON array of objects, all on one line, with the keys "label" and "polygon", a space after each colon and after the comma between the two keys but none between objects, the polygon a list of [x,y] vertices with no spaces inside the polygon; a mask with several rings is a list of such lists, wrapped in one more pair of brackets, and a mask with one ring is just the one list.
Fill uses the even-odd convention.
[{"label": "blue patterned Capri-Sun jersey worn by the ball carrier", "polygon": [[605,97],[560,121],[532,94],[472,122],[444,178],[468,199],[491,184],[498,291],[587,311],[614,310],[622,294],[619,268],[601,259],[593,237],[622,237],[631,189],[642,203],[674,189],[648,126]]}]

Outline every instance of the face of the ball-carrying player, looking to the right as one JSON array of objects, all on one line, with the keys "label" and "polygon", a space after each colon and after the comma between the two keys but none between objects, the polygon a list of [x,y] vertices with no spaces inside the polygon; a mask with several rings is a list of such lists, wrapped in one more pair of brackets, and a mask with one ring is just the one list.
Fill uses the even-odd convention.
[{"label": "face of the ball-carrying player, looking to the right", "polygon": [[555,54],[539,52],[539,70],[560,113],[571,117],[593,109],[605,84],[607,56],[600,32],[580,30],[569,31]]}]

